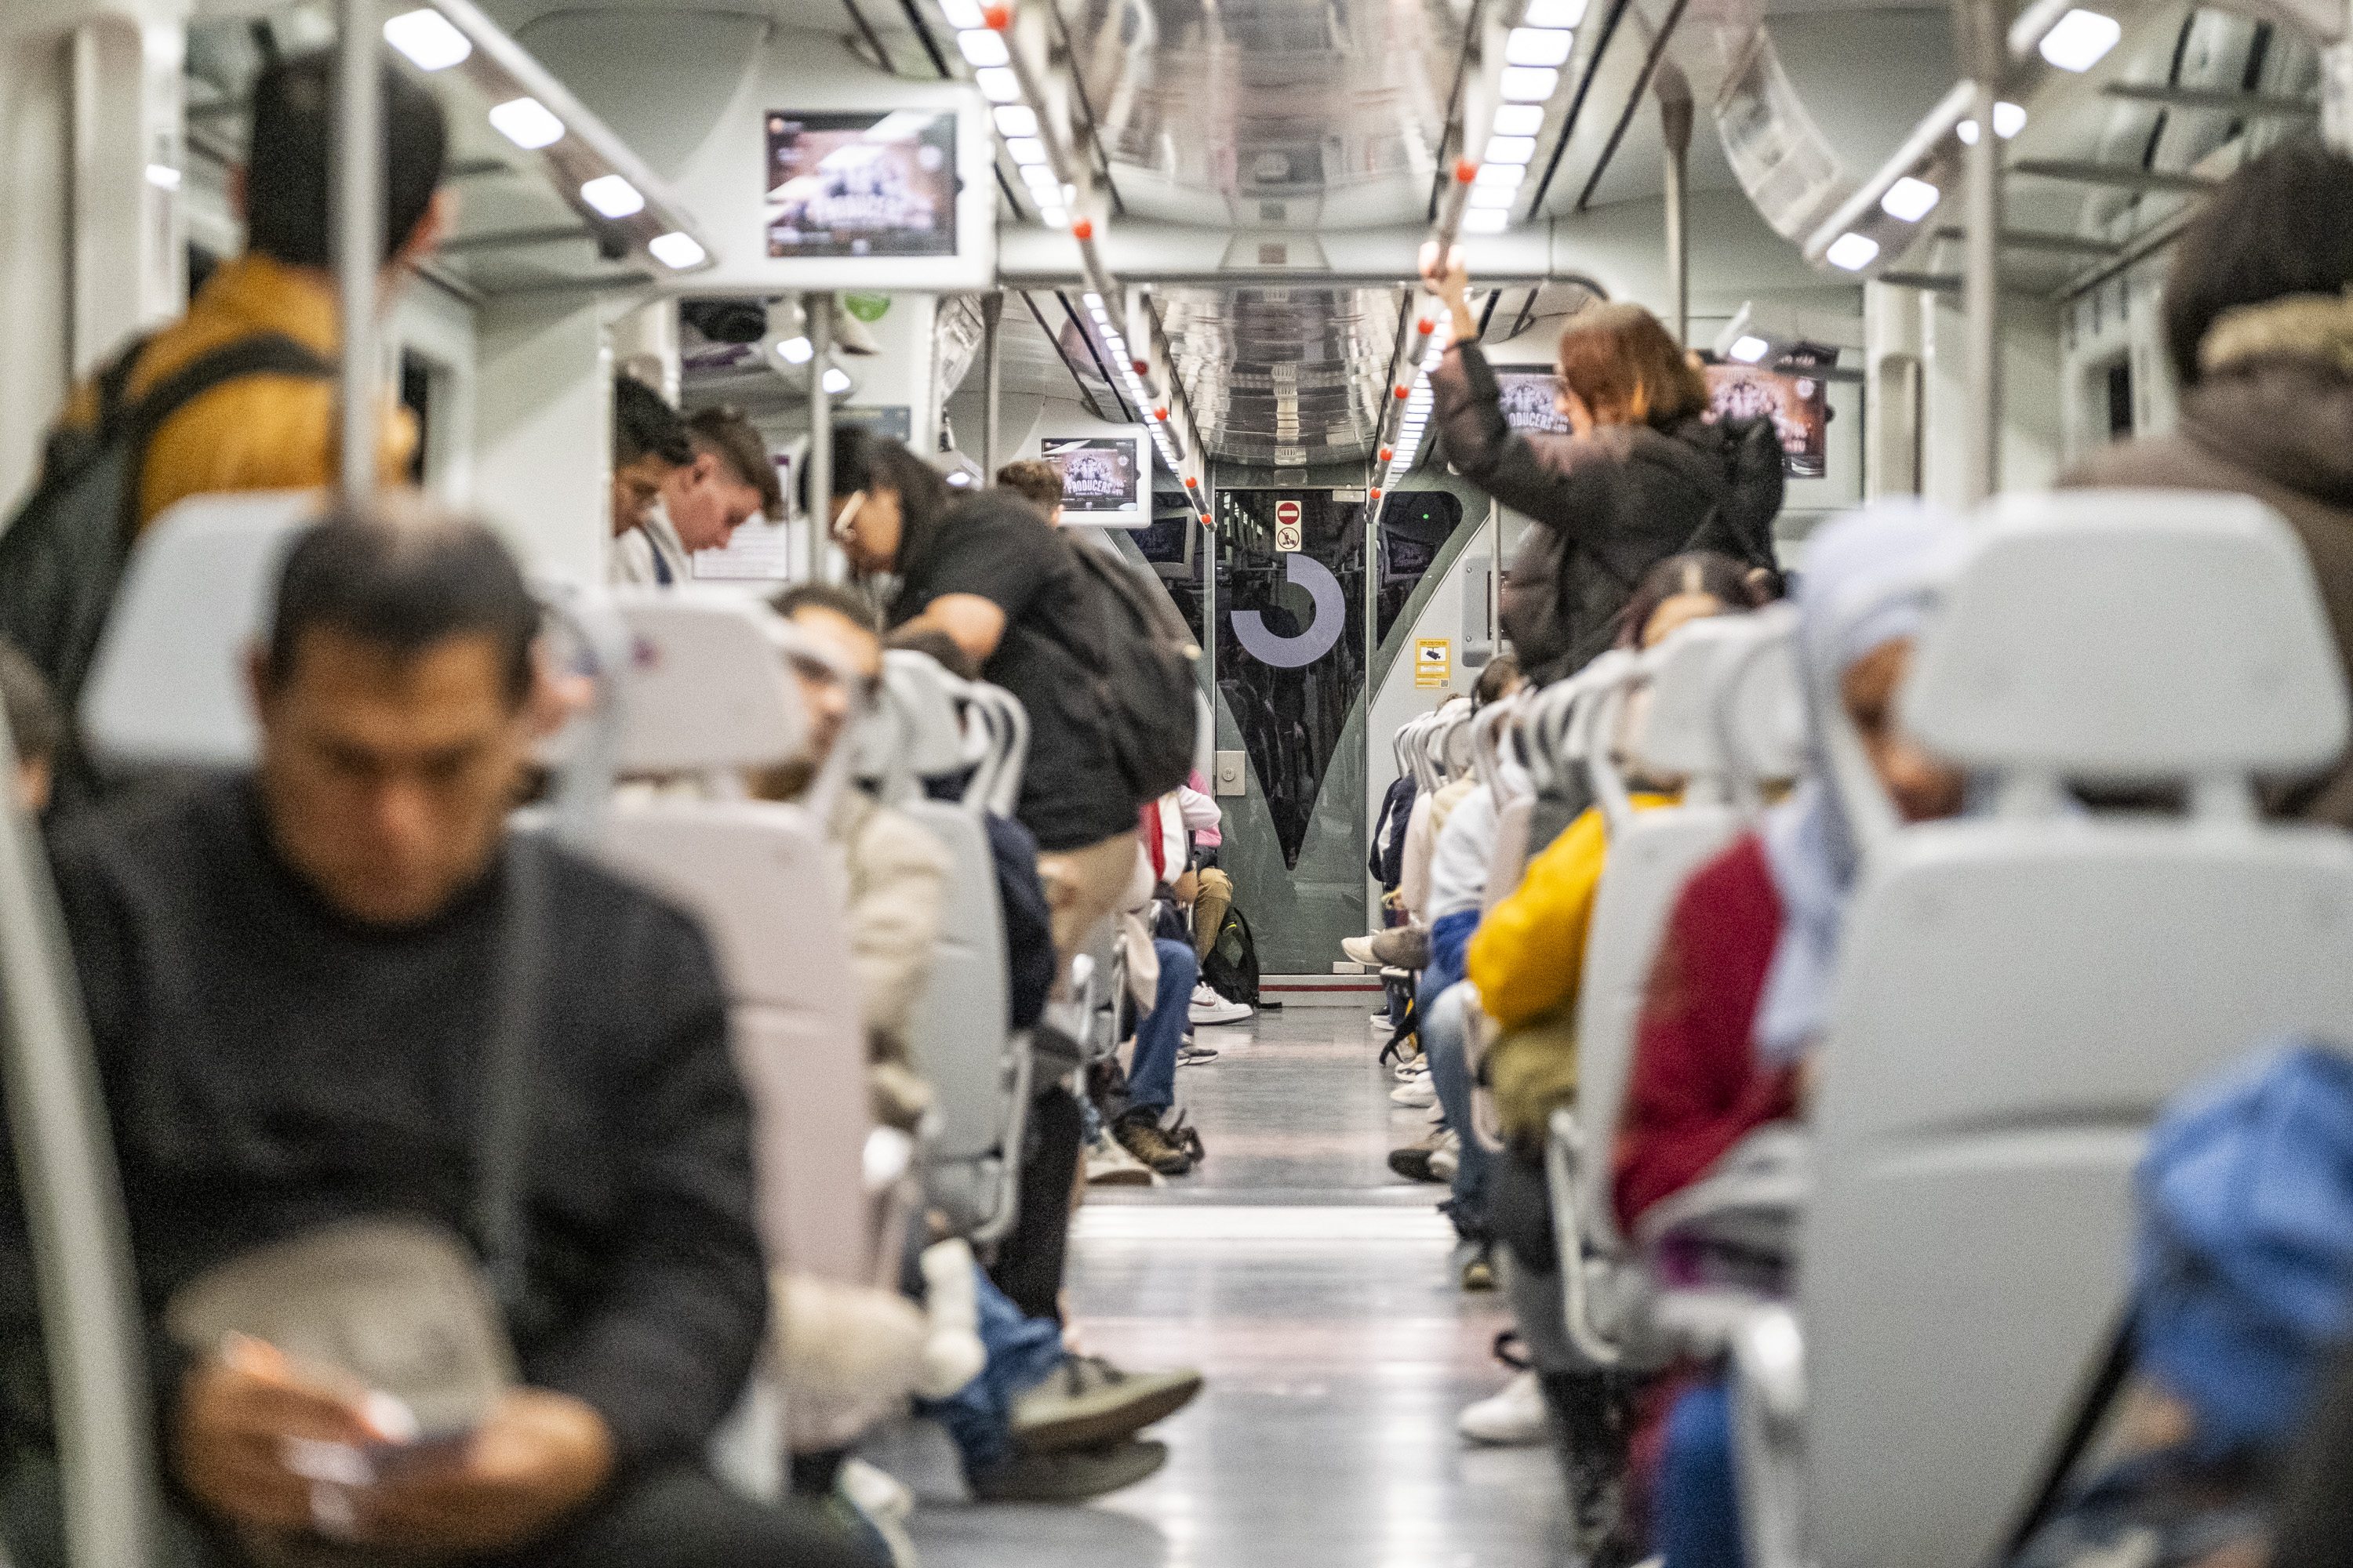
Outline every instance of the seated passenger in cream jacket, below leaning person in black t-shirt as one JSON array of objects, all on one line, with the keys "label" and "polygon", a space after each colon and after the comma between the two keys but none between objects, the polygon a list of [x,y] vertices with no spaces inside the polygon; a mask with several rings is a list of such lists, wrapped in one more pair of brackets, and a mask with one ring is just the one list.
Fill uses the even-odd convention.
[{"label": "seated passenger in cream jacket, below leaning person in black t-shirt", "polygon": [[[882,637],[866,599],[831,583],[800,583],[776,595],[774,607],[854,670],[868,691],[880,684]],[[833,670],[793,661],[793,672],[809,715],[809,748],[802,762],[762,780],[760,792],[776,799],[798,799],[809,788],[852,712],[852,693]],[[866,1020],[875,1119],[913,1131],[932,1093],[908,1065],[906,1030],[932,971],[939,910],[948,896],[948,851],[922,823],[856,785],[835,797],[826,832],[849,863],[849,959],[859,978],[859,1016]]]}]

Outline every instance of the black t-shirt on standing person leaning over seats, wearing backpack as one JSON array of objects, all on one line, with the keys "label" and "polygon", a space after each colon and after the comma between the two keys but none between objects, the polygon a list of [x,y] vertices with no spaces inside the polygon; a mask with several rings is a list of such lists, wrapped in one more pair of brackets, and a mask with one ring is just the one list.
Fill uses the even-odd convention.
[{"label": "black t-shirt on standing person leaning over seats, wearing backpack", "polygon": [[889,623],[904,625],[932,599],[969,592],[1005,611],[1005,637],[981,677],[1028,710],[1031,752],[1021,773],[1021,825],[1038,849],[1080,849],[1134,832],[1139,802],[1111,755],[1087,679],[1101,656],[1101,607],[1080,550],[1019,498],[984,491],[958,501],[927,527],[911,527],[899,550],[899,597]]}]

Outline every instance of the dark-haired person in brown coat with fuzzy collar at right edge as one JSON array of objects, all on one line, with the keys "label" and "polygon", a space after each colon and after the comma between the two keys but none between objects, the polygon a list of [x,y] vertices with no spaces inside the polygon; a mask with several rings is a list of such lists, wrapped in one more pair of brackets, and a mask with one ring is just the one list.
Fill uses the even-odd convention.
[{"label": "dark-haired person in brown coat with fuzzy collar at right edge", "polygon": [[[2172,430],[2097,451],[2061,484],[2219,489],[2304,541],[2353,679],[2353,160],[2287,141],[2205,197],[2165,275]],[[2353,827],[2353,755],[2273,809]]]}]

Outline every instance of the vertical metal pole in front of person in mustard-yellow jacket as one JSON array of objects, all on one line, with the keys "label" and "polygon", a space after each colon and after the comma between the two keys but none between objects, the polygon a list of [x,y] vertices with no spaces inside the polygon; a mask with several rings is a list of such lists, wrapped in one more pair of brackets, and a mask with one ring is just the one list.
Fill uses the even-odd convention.
[{"label": "vertical metal pole in front of person in mustard-yellow jacket", "polygon": [[376,0],[336,0],[334,61],[334,284],[344,313],[336,491],[346,503],[376,489],[376,273],[384,268],[384,78]]}]

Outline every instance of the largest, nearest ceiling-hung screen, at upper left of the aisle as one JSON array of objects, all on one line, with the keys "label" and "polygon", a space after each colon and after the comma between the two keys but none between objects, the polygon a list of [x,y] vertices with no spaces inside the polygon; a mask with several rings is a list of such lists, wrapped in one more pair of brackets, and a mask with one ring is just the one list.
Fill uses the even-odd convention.
[{"label": "largest, nearest ceiling-hung screen, at upper left of the aisle", "polygon": [[953,256],[955,113],[767,115],[767,254]]}]

